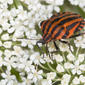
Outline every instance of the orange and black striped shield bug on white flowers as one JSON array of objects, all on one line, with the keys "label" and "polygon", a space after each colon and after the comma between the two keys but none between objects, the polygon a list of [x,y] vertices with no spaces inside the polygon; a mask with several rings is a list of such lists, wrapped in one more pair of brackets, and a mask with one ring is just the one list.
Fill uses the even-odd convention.
[{"label": "orange and black striped shield bug on white flowers", "polygon": [[[62,41],[62,39],[74,38],[85,34],[77,33],[83,29],[84,25],[84,19],[77,13],[56,13],[49,19],[40,23],[43,36],[42,39],[37,41],[36,45],[39,47],[38,43],[47,44],[48,42],[53,41],[56,50],[58,50],[59,48],[55,41],[59,40],[60,42],[68,44],[70,48],[70,43]],[[39,47],[39,49],[41,48]]]}]

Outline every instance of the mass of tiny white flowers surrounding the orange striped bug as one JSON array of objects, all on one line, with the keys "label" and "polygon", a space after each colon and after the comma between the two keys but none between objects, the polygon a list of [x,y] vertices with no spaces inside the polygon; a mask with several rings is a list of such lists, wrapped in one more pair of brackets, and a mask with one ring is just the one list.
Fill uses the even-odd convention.
[{"label": "mass of tiny white flowers surrounding the orange striped bug", "polygon": [[[17,5],[17,1],[24,3],[28,10],[20,3]],[[85,84],[84,53],[74,56],[68,51],[68,46],[60,43],[60,50],[68,54],[53,55],[53,61],[57,62],[54,69],[51,66],[54,62],[49,56],[43,58],[36,52],[36,40],[31,40],[41,38],[35,29],[36,24],[50,17],[54,10],[59,12],[63,3],[64,0],[0,0],[0,85],[52,85],[52,81],[69,85],[70,80],[72,85]],[[85,47],[85,40],[81,37],[74,43],[76,47]],[[54,50],[54,47],[50,46],[49,50]],[[62,78],[58,79],[58,73],[63,74]]]}]

